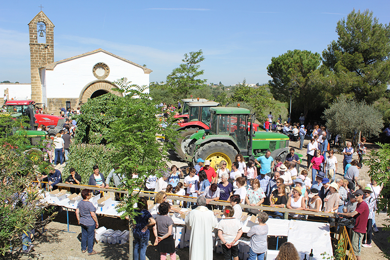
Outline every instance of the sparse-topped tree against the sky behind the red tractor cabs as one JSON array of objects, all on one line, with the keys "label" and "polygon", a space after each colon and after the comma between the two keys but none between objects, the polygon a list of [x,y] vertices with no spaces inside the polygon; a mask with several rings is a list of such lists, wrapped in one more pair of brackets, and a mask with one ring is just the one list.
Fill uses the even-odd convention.
[{"label": "sparse-topped tree against the sky behind the red tractor cabs", "polygon": [[192,90],[201,88],[206,83],[207,79],[197,78],[204,74],[204,70],[199,70],[199,64],[204,59],[202,50],[185,53],[183,63],[167,76],[167,85],[173,88],[178,98],[188,98]]}]

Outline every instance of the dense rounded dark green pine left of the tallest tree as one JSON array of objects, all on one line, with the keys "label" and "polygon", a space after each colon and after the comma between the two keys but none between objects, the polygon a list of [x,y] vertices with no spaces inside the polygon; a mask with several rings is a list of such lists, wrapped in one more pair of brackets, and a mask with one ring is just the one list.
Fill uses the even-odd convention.
[{"label": "dense rounded dark green pine left of the tallest tree", "polygon": [[273,57],[268,65],[268,82],[276,100],[290,103],[289,89],[292,89],[292,109],[303,111],[307,116],[309,110],[319,107],[322,102],[319,88],[310,80],[319,67],[320,55],[308,50],[289,50],[279,57]]}]

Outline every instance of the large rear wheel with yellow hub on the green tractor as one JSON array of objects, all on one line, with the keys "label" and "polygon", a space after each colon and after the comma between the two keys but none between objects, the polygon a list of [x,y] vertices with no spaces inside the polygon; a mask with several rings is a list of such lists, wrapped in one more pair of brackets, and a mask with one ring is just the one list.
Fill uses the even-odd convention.
[{"label": "large rear wheel with yellow hub on the green tractor", "polygon": [[215,170],[219,168],[219,162],[221,160],[226,161],[226,168],[232,169],[234,157],[238,151],[233,146],[223,142],[212,142],[204,145],[195,152],[195,162],[202,158],[204,160],[210,160],[211,167]]}]

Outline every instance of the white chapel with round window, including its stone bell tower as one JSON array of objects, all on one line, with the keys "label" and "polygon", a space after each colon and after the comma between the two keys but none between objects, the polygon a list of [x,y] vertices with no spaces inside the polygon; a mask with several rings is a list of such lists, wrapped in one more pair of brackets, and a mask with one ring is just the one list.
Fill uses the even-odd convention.
[{"label": "white chapel with round window, including its stone bell tower", "polygon": [[[147,86],[151,70],[103,49],[54,62],[54,24],[40,11],[29,25],[31,99],[49,113],[76,109],[89,98],[113,91],[114,81],[126,77],[131,84]],[[38,105],[39,106],[39,105]]]}]

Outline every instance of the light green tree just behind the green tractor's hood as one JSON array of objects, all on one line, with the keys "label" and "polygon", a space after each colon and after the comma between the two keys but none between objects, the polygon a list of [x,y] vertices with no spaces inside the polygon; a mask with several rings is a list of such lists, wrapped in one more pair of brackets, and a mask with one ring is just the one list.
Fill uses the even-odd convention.
[{"label": "light green tree just behind the green tractor's hood", "polygon": [[251,112],[256,113],[256,117],[260,121],[265,118],[269,111],[275,110],[275,104],[272,102],[272,95],[268,93],[265,86],[257,88],[249,87],[246,80],[234,90],[234,94],[230,98],[232,102],[246,103],[253,108]]}]

